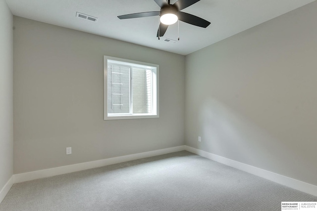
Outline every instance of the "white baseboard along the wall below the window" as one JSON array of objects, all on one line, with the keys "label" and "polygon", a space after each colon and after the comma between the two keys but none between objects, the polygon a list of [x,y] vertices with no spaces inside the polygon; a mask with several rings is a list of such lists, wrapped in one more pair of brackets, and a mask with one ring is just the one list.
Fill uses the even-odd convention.
[{"label": "white baseboard along the wall below the window", "polygon": [[104,167],[104,166],[108,166],[108,165],[112,165],[112,164],[118,164],[118,163],[122,163],[122,162],[127,162],[127,161],[142,159],[142,158],[148,158],[148,157],[153,157],[153,156],[157,156],[157,155],[164,155],[167,153],[178,152],[178,151],[182,151],[182,150],[185,150],[185,146],[159,149],[159,150],[150,151],[150,152],[142,152],[142,153],[138,153],[138,154],[125,155],[125,156],[120,156],[120,157],[115,157],[115,158],[108,158],[108,159],[104,159],[104,160],[91,161],[91,162],[74,164],[74,165],[69,165],[69,166],[56,167],[56,168],[52,168],[52,169],[43,169],[43,170],[26,172],[26,173],[19,173],[19,174],[13,175],[13,178],[14,178],[13,183],[24,182],[24,181],[29,181],[29,180],[39,179],[39,178],[44,178],[44,177],[49,177],[49,176],[55,176],[55,175],[60,175],[60,174],[64,174],[64,173],[71,173],[71,172],[80,171],[80,170]]}]

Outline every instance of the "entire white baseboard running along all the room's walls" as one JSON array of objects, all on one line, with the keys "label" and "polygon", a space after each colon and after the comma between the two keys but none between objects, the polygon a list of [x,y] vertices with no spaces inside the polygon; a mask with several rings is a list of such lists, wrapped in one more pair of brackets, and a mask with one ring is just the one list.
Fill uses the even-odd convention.
[{"label": "entire white baseboard running along all the room's walls", "polygon": [[296,190],[317,196],[316,185],[312,185],[303,181],[299,181],[287,176],[283,176],[283,175],[273,173],[264,169],[243,164],[234,160],[230,160],[228,158],[224,158],[224,157],[221,157],[221,156],[218,156],[203,150],[199,150],[199,149],[184,145],[184,146],[171,147],[171,148],[160,149],[160,150],[155,150],[150,152],[120,156],[115,158],[108,158],[104,160],[74,164],[69,166],[62,166],[62,167],[57,167],[53,169],[44,169],[44,170],[14,174],[0,191],[0,202],[3,200],[3,198],[5,197],[5,195],[10,190],[11,186],[14,183],[24,182],[24,181],[29,181],[29,180],[39,179],[39,178],[44,178],[49,176],[55,176],[55,175],[60,175],[64,173],[71,173],[71,172],[80,171],[80,170],[93,169],[93,168],[108,166],[112,164],[118,164],[122,162],[148,158],[148,157],[163,155],[163,154],[172,153],[172,152],[178,152],[182,150],[187,150],[189,152],[195,153],[197,155],[216,161],[218,163],[222,163],[224,165],[233,167],[235,169],[240,169],[248,173],[271,180],[273,182],[285,185],[287,187],[294,188]]}]

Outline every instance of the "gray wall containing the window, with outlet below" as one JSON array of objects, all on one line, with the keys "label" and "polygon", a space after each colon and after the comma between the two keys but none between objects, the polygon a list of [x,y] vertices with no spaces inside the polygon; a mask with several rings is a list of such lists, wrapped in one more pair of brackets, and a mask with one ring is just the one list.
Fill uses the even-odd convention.
[{"label": "gray wall containing the window, with outlet below", "polygon": [[[185,56],[20,17],[14,26],[14,173],[184,144]],[[103,120],[104,55],[159,64],[159,118]]]}]

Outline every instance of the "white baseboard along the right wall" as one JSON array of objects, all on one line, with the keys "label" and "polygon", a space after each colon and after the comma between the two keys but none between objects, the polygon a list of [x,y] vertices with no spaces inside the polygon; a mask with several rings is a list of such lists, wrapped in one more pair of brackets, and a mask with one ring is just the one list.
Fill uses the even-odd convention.
[{"label": "white baseboard along the right wall", "polygon": [[296,190],[308,193],[308,194],[312,194],[314,196],[317,196],[317,186],[316,185],[312,185],[297,179],[293,179],[287,176],[283,176],[277,173],[273,173],[271,171],[267,171],[264,169],[260,169],[257,167],[253,167],[247,164],[243,164],[240,163],[238,161],[234,161],[234,160],[230,160],[228,158],[224,158],[203,150],[199,150],[193,147],[189,147],[189,146],[185,146],[185,150],[189,151],[191,153],[200,155],[202,157],[208,158],[210,160],[216,161],[218,163],[227,165],[229,167],[233,167],[235,169],[240,169],[243,171],[246,171],[248,173],[263,177],[265,179],[271,180],[273,182],[285,185],[287,187],[290,188],[294,188]]}]

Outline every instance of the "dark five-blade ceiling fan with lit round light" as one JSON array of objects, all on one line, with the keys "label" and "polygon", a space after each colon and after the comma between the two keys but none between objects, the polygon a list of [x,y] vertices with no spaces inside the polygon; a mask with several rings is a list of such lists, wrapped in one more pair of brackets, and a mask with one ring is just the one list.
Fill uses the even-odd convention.
[{"label": "dark five-blade ceiling fan with lit round light", "polygon": [[118,16],[118,18],[129,19],[129,18],[141,18],[141,17],[150,17],[150,16],[159,15],[160,23],[159,23],[158,33],[157,33],[158,38],[162,37],[165,34],[168,25],[176,23],[177,20],[192,24],[194,26],[203,27],[203,28],[206,28],[210,25],[210,22],[203,18],[180,11],[200,0],[178,0],[174,4],[170,4],[170,0],[168,1],[154,0],[154,1],[159,5],[160,11],[139,12],[139,13],[132,13],[127,15],[120,15]]}]

